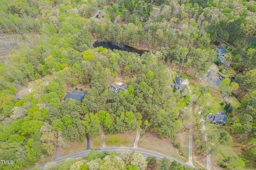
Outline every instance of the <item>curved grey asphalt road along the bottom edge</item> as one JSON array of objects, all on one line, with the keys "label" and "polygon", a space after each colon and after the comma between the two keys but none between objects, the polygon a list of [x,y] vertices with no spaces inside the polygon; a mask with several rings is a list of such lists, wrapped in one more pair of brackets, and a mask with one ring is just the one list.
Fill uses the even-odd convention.
[{"label": "curved grey asphalt road along the bottom edge", "polygon": [[[104,152],[104,151],[107,151],[107,152],[137,151],[137,152],[140,152],[145,157],[154,156],[157,159],[162,159],[162,158],[165,157],[167,159],[170,159],[171,161],[176,161],[176,162],[178,162],[182,165],[186,165],[186,166],[195,168],[193,165],[182,162],[181,160],[178,160],[178,159],[160,154],[160,153],[155,152],[155,151],[146,150],[146,149],[131,148],[131,147],[109,147],[109,148],[100,148],[100,149],[95,149],[95,150],[99,150],[100,152]],[[82,152],[78,152],[76,154],[70,154],[70,155],[67,155],[67,156],[63,156],[63,157],[60,157],[58,159],[55,159],[54,162],[60,163],[60,162],[66,160],[68,158],[75,159],[75,158],[87,157],[89,152],[90,152],[90,150],[85,150],[85,151],[82,151]],[[34,168],[43,168],[45,164],[37,165]],[[33,168],[31,168],[31,169],[33,169]]]}]

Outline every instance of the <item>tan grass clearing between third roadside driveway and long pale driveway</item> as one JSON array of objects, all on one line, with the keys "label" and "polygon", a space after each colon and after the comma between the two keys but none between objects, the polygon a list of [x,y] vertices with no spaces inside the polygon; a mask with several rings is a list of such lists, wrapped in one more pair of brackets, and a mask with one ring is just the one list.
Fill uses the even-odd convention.
[{"label": "tan grass clearing between third roadside driveway and long pale driveway", "polygon": [[170,140],[159,139],[156,135],[151,133],[145,133],[140,137],[138,142],[138,147],[148,150],[153,150],[161,154],[171,156],[177,159],[180,159],[184,162],[187,161],[187,158],[179,154],[179,149],[174,148]]}]

